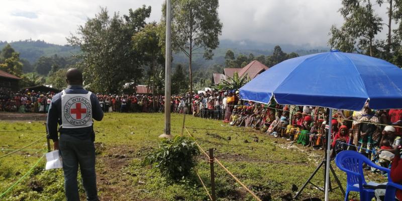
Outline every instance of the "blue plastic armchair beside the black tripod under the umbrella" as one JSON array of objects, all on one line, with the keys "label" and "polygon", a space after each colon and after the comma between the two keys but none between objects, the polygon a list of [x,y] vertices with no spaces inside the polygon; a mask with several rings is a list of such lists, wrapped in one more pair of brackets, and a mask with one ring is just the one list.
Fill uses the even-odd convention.
[{"label": "blue plastic armchair beside the black tripod under the umbrella", "polygon": [[[339,169],[346,172],[347,184],[346,184],[346,196],[345,201],[348,200],[349,192],[360,192],[360,200],[370,201],[374,197],[374,189],[364,188],[366,184],[364,179],[363,164],[374,167],[376,169],[385,171],[388,173],[388,182],[391,181],[389,177],[390,169],[381,167],[370,161],[366,156],[356,151],[341,151],[337,154],[335,163]],[[385,199],[387,200],[387,199]]]}]

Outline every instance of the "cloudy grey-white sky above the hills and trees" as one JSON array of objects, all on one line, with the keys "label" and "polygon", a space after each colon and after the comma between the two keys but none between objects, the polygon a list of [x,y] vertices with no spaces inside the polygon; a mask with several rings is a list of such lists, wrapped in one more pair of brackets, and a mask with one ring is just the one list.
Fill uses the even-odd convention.
[{"label": "cloudy grey-white sky above the hills and trees", "polygon": [[[221,39],[274,44],[326,46],[331,25],[341,25],[340,0],[220,0]],[[64,45],[65,37],[93,18],[99,7],[127,14],[152,7],[149,21],[159,21],[163,0],[2,0],[0,40],[45,40]],[[383,6],[385,8],[385,6]],[[384,8],[377,8],[386,19]],[[385,31],[383,31],[385,32]],[[385,33],[381,33],[384,37]]]}]

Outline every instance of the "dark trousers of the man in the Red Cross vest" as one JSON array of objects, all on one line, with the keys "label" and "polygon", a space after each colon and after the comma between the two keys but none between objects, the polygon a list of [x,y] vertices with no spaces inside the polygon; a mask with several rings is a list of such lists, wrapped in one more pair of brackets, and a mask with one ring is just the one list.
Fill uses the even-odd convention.
[{"label": "dark trousers of the man in the Red Cross vest", "polygon": [[67,201],[79,200],[77,170],[81,170],[82,185],[87,200],[98,200],[96,192],[95,146],[92,140],[61,134],[60,154],[63,160],[64,186]]}]

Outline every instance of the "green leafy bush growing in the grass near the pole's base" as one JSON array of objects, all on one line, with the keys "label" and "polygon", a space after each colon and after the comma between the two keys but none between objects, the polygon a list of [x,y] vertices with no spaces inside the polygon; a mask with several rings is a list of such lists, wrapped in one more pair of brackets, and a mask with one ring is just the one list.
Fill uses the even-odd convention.
[{"label": "green leafy bush growing in the grass near the pole's base", "polygon": [[145,164],[154,164],[169,179],[182,180],[191,174],[199,155],[198,147],[192,138],[176,136],[163,139],[155,152],[145,157]]}]

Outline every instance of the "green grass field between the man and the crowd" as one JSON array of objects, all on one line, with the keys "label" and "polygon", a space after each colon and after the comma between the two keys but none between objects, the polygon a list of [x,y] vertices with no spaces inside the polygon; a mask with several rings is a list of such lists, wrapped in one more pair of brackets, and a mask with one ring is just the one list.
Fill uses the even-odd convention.
[{"label": "green grass field between the man and the crowd", "polygon": [[[172,134],[179,135],[182,115],[172,114]],[[1,121],[0,131],[44,131],[44,122]],[[215,148],[215,156],[234,175],[253,190],[262,200],[282,200],[292,193],[292,184],[299,188],[321,162],[323,151],[312,150],[261,133],[250,133],[246,128],[227,127],[221,121],[186,116],[186,127],[224,131],[188,129],[203,147]],[[144,156],[159,144],[157,136],[163,133],[163,114],[106,114],[102,122],[95,122],[97,187],[101,200],[208,200],[205,189],[194,175],[179,182],[167,181],[158,169],[143,165]],[[239,131],[239,132],[233,132]],[[0,132],[0,157],[23,147],[45,133]],[[184,131],[184,135],[186,135]],[[228,140],[228,137],[231,137]],[[258,140],[256,140],[258,139]],[[258,141],[258,142],[256,142]],[[0,158],[0,193],[6,191],[23,176],[47,149],[46,140],[10,156]],[[203,155],[198,157],[197,171],[210,187],[210,168]],[[64,200],[61,170],[44,170],[44,160],[32,173],[0,200]],[[333,167],[345,185],[346,175]],[[215,165],[218,200],[254,200],[223,168]],[[371,179],[383,181],[379,175]],[[323,185],[323,171],[313,180]],[[333,182],[335,186],[336,183]],[[81,197],[85,198],[80,187]],[[294,193],[292,193],[294,195]],[[300,195],[324,197],[324,193],[308,185]],[[343,200],[339,189],[330,194],[331,200]]]}]

